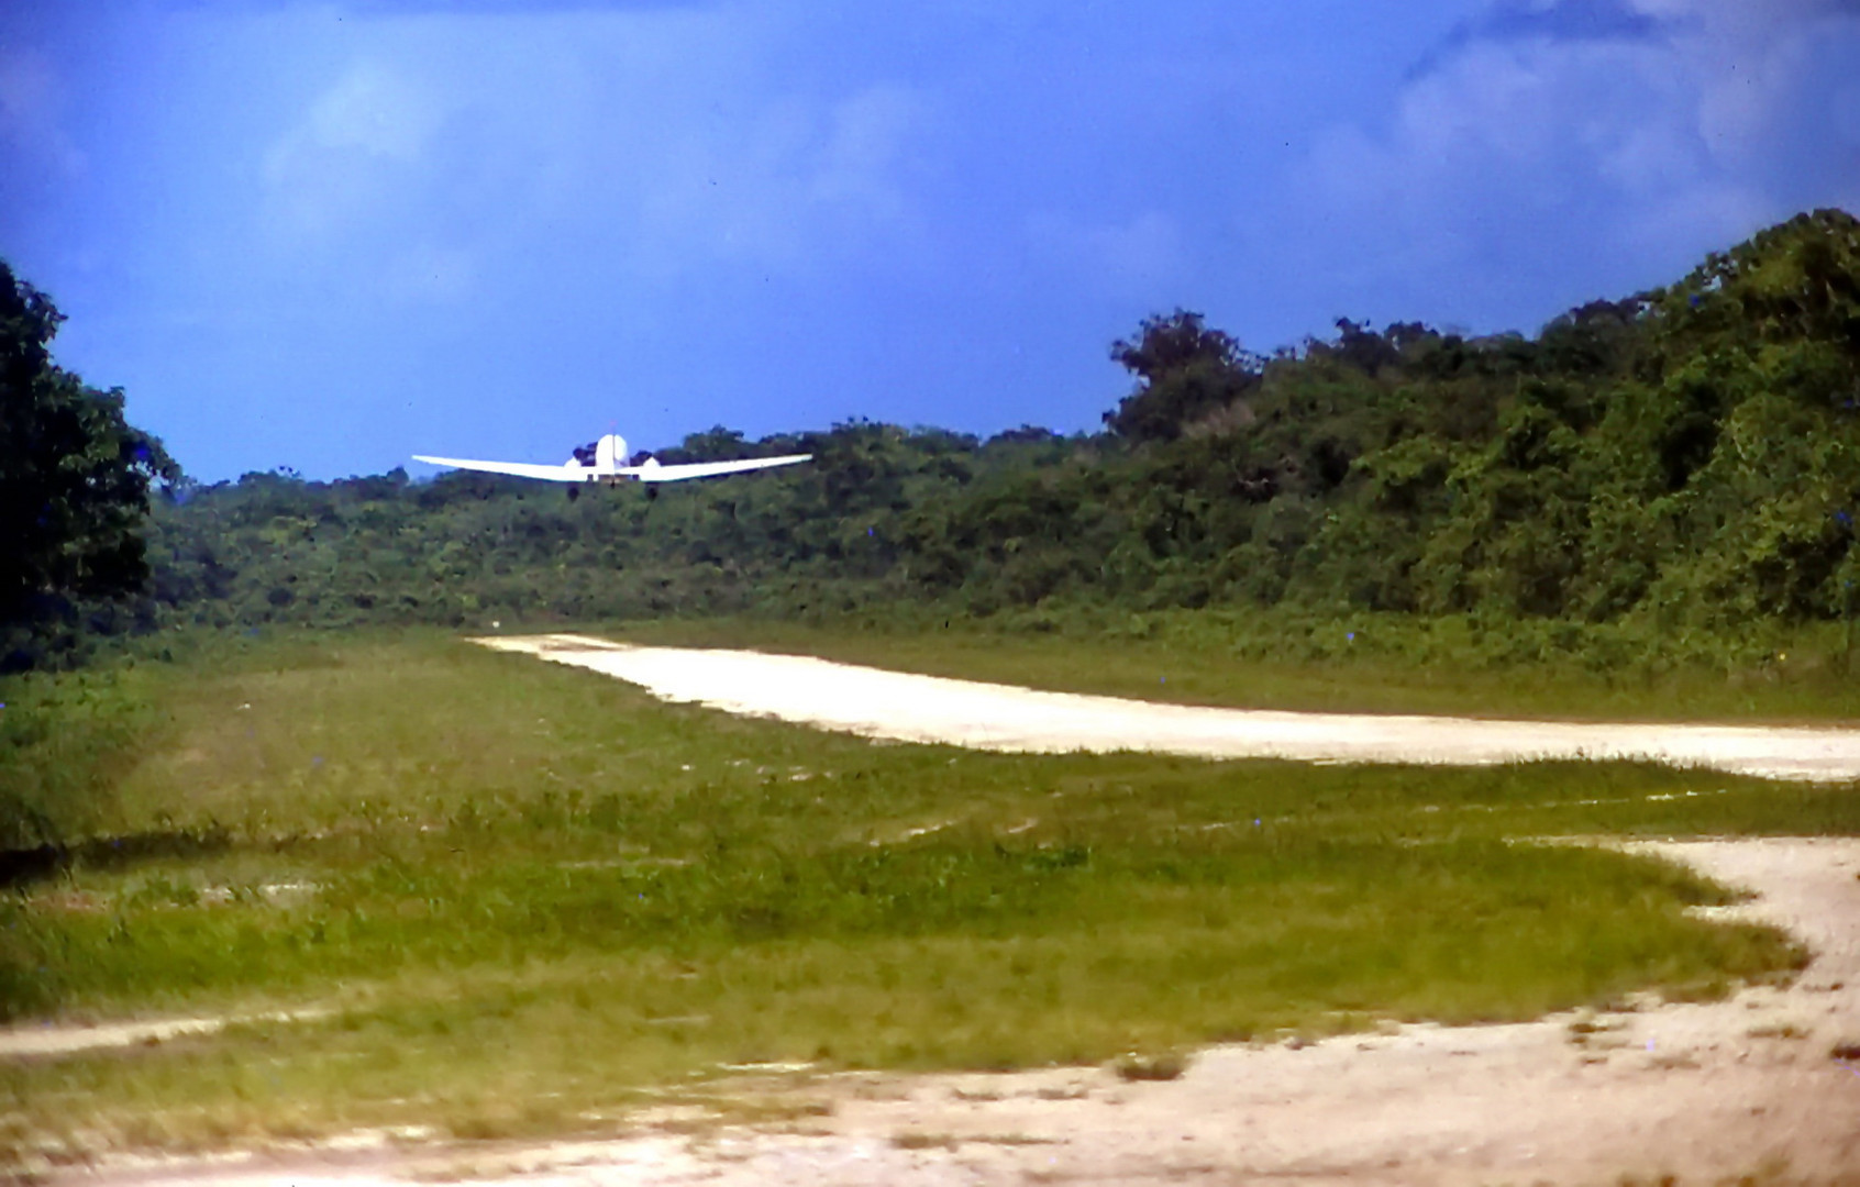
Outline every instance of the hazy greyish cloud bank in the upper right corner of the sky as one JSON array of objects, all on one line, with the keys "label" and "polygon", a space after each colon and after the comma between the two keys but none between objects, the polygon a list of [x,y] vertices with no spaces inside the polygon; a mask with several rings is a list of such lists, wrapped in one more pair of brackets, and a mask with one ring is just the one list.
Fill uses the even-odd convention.
[{"label": "hazy greyish cloud bank in the upper right corner of the sky", "polygon": [[[1841,132],[1860,130],[1851,6],[1562,0],[1572,19],[1546,20],[1557,7],[1531,20],[1494,9],[1384,121],[1317,141],[1291,210],[1324,233],[1326,262],[1365,292],[1482,275],[1447,298],[1479,320],[1566,273],[1572,251],[1598,260],[1590,283],[1626,290],[1804,205],[1860,203],[1860,156]],[[1596,32],[1568,32],[1603,9]]]}]

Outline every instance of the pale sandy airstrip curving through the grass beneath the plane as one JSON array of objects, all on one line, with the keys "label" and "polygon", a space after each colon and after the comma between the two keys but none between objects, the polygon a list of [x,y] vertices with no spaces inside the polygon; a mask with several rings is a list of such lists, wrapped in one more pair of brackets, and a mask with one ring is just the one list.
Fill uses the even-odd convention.
[{"label": "pale sandy airstrip curving through the grass beneath the plane", "polygon": [[604,672],[668,701],[696,701],[902,742],[1047,754],[1153,750],[1319,763],[1486,765],[1620,757],[1774,780],[1860,778],[1860,729],[1205,709],[882,672],[805,655],[634,647],[578,634],[476,642]]}]

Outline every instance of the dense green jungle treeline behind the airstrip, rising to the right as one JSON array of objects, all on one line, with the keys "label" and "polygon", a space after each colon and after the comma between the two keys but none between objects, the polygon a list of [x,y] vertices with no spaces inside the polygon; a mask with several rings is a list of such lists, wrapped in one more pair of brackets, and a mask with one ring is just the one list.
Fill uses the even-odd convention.
[{"label": "dense green jungle treeline behind the airstrip, rising to the right", "polygon": [[1739,631],[1854,610],[1860,221],[1802,214],[1534,337],[1348,320],[1254,353],[1187,311],[1112,344],[1103,432],[837,424],[718,482],[179,484],[145,623],[1296,607]]}]

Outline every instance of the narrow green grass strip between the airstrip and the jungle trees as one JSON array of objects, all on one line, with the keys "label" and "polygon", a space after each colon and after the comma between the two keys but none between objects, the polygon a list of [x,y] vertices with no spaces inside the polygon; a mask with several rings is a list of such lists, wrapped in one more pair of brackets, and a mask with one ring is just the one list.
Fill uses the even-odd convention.
[{"label": "narrow green grass strip between the airstrip and the jungle trees", "polygon": [[[1860,720],[1843,623],[1774,638],[1616,638],[1613,627],[1282,610],[936,620],[660,620],[614,638],[755,647],[960,679],[1185,705],[1568,720]],[[1670,647],[1663,649],[1663,644]]]}]

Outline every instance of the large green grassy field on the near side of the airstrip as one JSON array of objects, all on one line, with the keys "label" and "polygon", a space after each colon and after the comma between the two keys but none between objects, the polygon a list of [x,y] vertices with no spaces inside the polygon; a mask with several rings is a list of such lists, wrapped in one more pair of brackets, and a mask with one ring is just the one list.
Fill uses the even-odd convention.
[{"label": "large green grassy field on the near side of the airstrip", "polygon": [[1088,1062],[1711,994],[1799,953],[1683,917],[1722,891],[1680,871],[1505,837],[1860,830],[1851,789],[1628,765],[882,746],[439,634],[13,692],[119,713],[82,750],[13,739],[7,770],[60,765],[41,793],[82,802],[41,804],[74,863],[0,902],[0,1008],[333,1010],[13,1062],[22,1144],[610,1129],[729,1064]]}]

